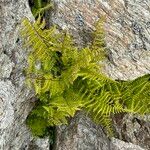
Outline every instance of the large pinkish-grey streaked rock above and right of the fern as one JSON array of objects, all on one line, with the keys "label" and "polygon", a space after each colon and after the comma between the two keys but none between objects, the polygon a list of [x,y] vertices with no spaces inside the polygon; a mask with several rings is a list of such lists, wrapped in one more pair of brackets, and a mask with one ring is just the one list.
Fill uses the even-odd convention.
[{"label": "large pinkish-grey streaked rock above and right of the fern", "polygon": [[54,1],[51,21],[72,32],[79,45],[89,42],[94,22],[106,15],[109,76],[128,80],[150,73],[150,0]]}]

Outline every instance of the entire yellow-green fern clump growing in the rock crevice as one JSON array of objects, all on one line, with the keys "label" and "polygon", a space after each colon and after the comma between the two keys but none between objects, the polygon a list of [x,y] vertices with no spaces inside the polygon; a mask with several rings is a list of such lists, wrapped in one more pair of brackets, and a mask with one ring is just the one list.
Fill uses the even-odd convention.
[{"label": "entire yellow-green fern clump growing in the rock crevice", "polygon": [[27,83],[38,98],[27,124],[36,136],[48,127],[67,124],[83,108],[111,133],[111,115],[120,112],[149,113],[150,75],[134,81],[114,81],[100,72],[106,55],[103,19],[97,22],[93,42],[79,50],[71,36],[56,27],[44,29],[41,17],[23,20],[21,35],[31,49]]}]

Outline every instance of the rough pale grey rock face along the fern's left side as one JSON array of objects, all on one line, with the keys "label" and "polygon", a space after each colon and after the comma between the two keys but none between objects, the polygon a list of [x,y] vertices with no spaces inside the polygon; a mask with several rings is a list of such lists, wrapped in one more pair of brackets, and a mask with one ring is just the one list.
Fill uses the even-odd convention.
[{"label": "rough pale grey rock face along the fern's left side", "polygon": [[41,148],[43,142],[33,140],[25,125],[33,107],[33,92],[23,75],[27,51],[19,37],[25,16],[33,20],[28,0],[0,0],[0,150],[27,150],[31,143],[36,150],[49,149],[47,139]]}]

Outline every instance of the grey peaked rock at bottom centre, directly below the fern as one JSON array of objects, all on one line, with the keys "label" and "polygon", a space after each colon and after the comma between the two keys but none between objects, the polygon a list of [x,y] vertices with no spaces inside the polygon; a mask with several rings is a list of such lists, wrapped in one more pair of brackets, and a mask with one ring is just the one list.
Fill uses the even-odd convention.
[{"label": "grey peaked rock at bottom centre, directly below the fern", "polygon": [[110,140],[100,126],[78,113],[69,126],[57,128],[56,150],[109,150]]}]

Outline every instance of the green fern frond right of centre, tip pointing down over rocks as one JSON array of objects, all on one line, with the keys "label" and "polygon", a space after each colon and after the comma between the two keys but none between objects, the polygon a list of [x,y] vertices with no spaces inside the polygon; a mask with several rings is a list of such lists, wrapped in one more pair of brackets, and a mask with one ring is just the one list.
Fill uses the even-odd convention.
[{"label": "green fern frond right of centre, tip pointing down over rocks", "polygon": [[119,83],[109,78],[105,79],[104,76],[94,80],[92,77],[84,78],[74,83],[84,101],[84,110],[96,123],[105,126],[108,133],[112,135],[111,115],[125,112]]}]

